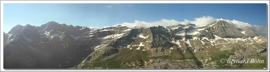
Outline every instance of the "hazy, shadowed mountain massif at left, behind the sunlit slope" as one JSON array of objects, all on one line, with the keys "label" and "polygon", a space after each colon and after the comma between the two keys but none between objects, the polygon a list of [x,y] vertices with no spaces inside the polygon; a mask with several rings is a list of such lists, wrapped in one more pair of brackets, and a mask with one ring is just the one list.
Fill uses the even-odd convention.
[{"label": "hazy, shadowed mountain massif at left, behind the sunlit slope", "polygon": [[124,26],[89,29],[53,21],[40,27],[17,25],[14,31],[5,34],[4,68],[70,68],[98,45],[110,42],[113,39],[110,36],[127,29]]}]

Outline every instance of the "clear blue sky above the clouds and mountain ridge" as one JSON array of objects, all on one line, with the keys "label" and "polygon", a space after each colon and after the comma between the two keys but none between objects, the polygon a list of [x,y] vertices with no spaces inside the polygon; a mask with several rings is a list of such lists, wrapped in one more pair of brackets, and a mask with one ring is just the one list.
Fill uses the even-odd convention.
[{"label": "clear blue sky above the clouds and mountain ridge", "polygon": [[4,32],[17,24],[40,26],[49,21],[103,28],[135,20],[177,21],[213,16],[267,25],[266,4],[4,4]]}]

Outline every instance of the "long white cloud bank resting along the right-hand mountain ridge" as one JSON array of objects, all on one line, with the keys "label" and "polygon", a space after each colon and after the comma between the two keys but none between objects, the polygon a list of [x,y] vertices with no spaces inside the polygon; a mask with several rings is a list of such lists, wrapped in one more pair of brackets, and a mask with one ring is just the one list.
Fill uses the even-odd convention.
[{"label": "long white cloud bank resting along the right-hand mountain ridge", "polygon": [[240,21],[237,21],[234,19],[233,20],[216,19],[212,16],[202,16],[202,17],[194,18],[194,19],[195,19],[194,21],[189,21],[189,20],[184,19],[183,22],[176,21],[173,19],[171,19],[171,20],[161,19],[160,21],[155,21],[155,22],[144,22],[144,21],[135,20],[134,23],[124,22],[122,24],[116,24],[114,26],[122,25],[122,26],[127,26],[127,27],[134,27],[134,26],[153,27],[153,26],[160,25],[160,26],[166,27],[166,26],[171,26],[171,25],[176,25],[176,24],[189,24],[189,23],[196,24],[196,26],[201,26],[201,25],[213,24],[218,20],[224,20],[224,21],[230,23],[235,28],[242,28],[242,27],[248,26],[254,31],[254,33],[256,35],[266,36],[266,34],[267,34],[267,32],[266,32],[267,29],[263,26],[252,25],[252,24],[248,24],[246,22],[240,22]]}]

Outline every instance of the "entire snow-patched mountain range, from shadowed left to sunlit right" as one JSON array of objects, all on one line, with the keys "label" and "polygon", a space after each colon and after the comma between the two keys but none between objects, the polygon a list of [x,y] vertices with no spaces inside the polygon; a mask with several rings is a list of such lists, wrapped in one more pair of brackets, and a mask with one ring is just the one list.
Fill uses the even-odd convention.
[{"label": "entire snow-patched mountain range, from shadowed left to sunlit right", "polygon": [[[90,29],[48,22],[4,33],[4,68],[214,69],[266,67],[266,37],[226,21]],[[221,59],[264,63],[221,63]]]}]

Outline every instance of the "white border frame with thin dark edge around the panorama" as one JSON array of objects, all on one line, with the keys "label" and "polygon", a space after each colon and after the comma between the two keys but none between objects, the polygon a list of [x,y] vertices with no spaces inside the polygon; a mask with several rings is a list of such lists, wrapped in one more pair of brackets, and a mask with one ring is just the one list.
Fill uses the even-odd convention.
[{"label": "white border frame with thin dark edge around the panorama", "polygon": [[[0,35],[1,35],[1,45],[0,45],[0,49],[1,49],[1,71],[268,71],[269,72],[269,1],[64,1],[64,0],[55,0],[55,1],[30,1],[30,0],[25,0],[25,1],[1,1],[0,2]],[[92,69],[10,69],[10,70],[6,70],[3,69],[3,6],[4,3],[266,3],[267,4],[267,70],[259,70],[259,69],[172,69],[172,70],[165,70],[165,69],[100,69],[100,70],[92,70]]]}]

